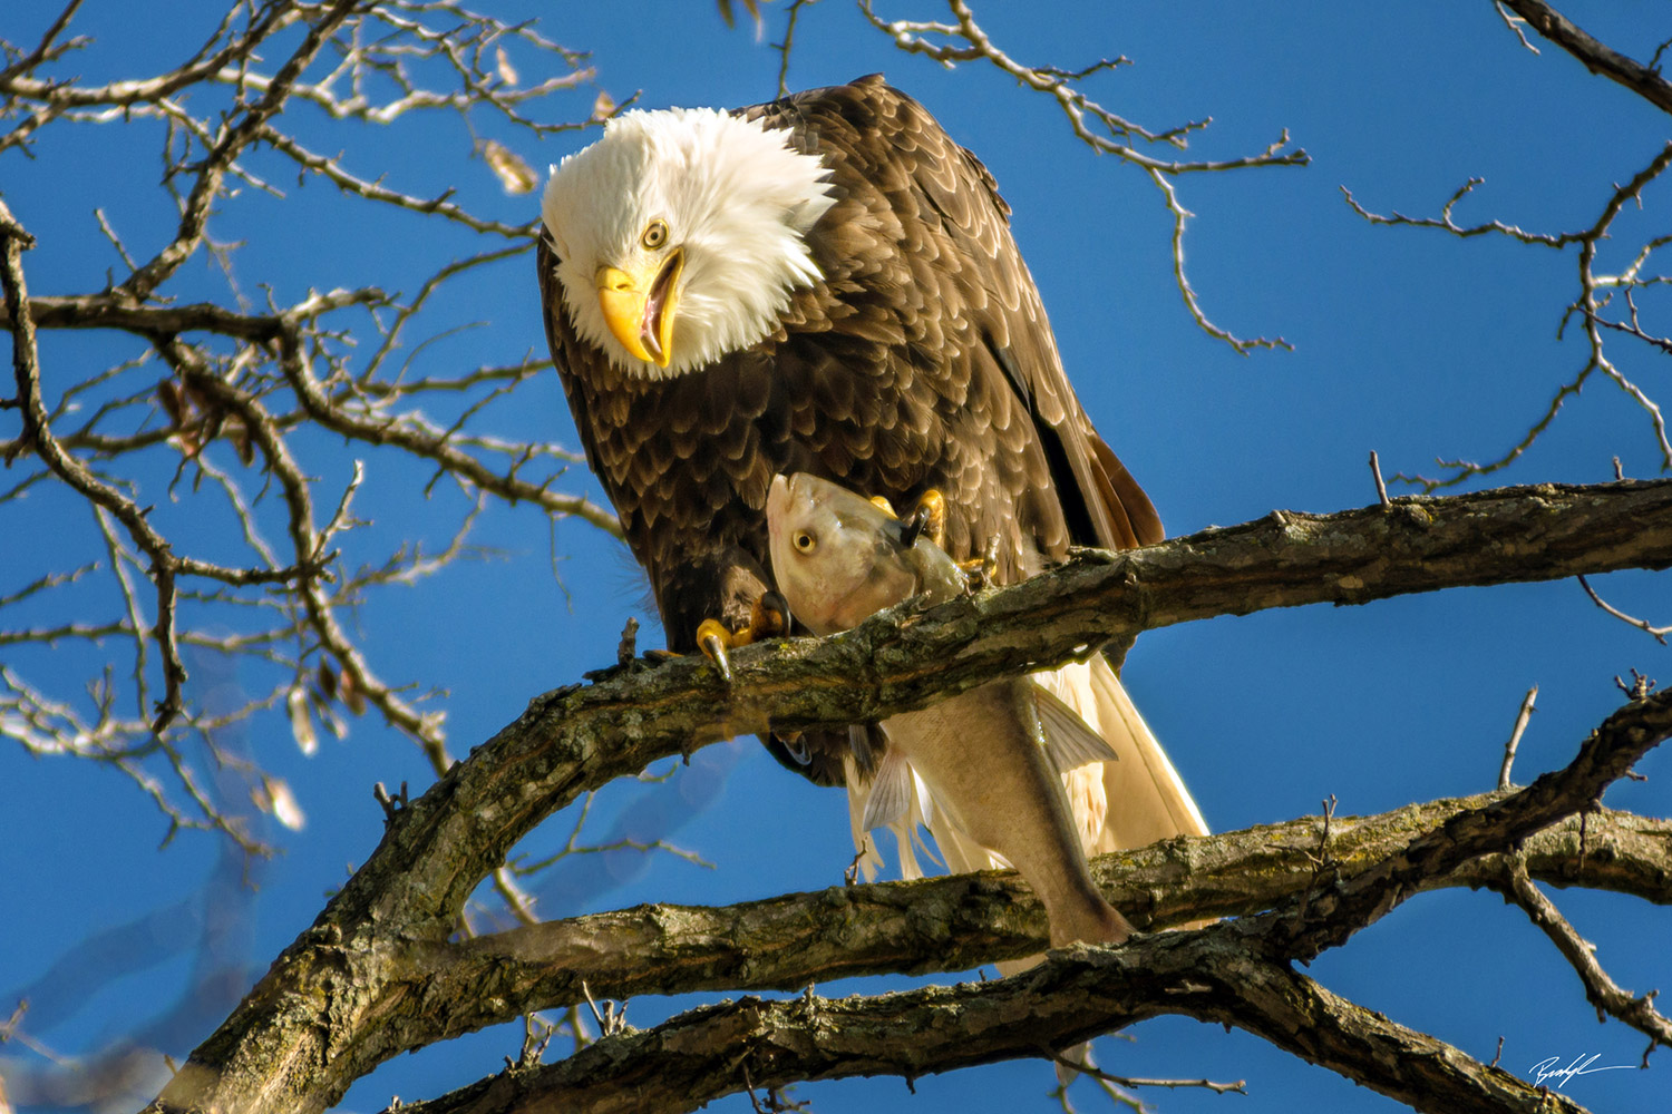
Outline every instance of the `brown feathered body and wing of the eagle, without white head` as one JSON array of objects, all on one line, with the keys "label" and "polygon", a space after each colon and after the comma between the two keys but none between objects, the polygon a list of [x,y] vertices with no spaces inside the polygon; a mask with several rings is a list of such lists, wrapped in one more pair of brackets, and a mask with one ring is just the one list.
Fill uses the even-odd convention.
[{"label": "brown feathered body and wing of the eagle, without white head", "polygon": [[[552,357],[670,648],[692,650],[704,618],[741,623],[771,586],[781,471],[896,506],[936,488],[946,549],[1000,536],[1002,580],[1068,544],[1159,541],[1068,386],[986,167],[879,77],[742,115],[821,155],[836,199],[808,232],[823,279],[791,294],[774,336],[682,376],[625,376],[577,337],[552,247],[538,251]],[[806,772],[839,783],[839,755]]]}]

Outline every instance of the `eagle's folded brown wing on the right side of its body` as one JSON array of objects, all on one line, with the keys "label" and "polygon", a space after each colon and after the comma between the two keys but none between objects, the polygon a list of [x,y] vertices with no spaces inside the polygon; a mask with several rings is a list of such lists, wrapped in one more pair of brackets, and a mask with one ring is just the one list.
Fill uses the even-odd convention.
[{"label": "eagle's folded brown wing on the right side of its body", "polygon": [[[798,299],[804,336],[884,349],[876,359],[890,366],[891,386],[923,399],[876,418],[935,431],[953,446],[958,459],[926,469],[943,473],[955,511],[948,548],[968,556],[990,534],[1015,531],[1012,516],[1020,526],[1015,541],[1048,556],[1072,543],[1159,541],[1154,506],[1097,436],[1063,374],[1010,234],[1010,209],[986,167],[876,75],[749,112],[789,127],[831,167],[838,200],[809,241],[839,311],[824,299]],[[893,441],[878,436],[874,448],[888,451]],[[851,473],[833,478],[901,499],[920,494],[868,488]]]}]

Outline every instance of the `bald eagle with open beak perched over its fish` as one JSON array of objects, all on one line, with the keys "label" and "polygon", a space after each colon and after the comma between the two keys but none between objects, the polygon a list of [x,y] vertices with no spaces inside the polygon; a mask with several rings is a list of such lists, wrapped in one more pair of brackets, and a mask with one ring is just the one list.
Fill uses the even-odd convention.
[{"label": "bald eagle with open beak perched over its fish", "polygon": [[[706,618],[741,626],[771,588],[777,473],[895,506],[938,489],[946,549],[997,536],[1000,581],[1070,544],[1162,538],[1063,376],[1008,214],[986,167],[878,75],[737,112],[627,112],[553,170],[547,341],[672,650]],[[1082,706],[1093,722],[1097,696]],[[843,783],[844,752],[831,735],[786,765]],[[1107,765],[1157,787],[1135,810],[1149,838],[1200,828],[1159,747]]]}]

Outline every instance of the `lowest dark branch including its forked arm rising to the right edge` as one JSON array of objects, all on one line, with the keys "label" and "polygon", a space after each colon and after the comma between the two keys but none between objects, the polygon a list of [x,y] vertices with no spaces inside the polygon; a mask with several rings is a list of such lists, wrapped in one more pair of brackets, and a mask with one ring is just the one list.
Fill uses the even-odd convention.
[{"label": "lowest dark branch including its forked arm rising to the right edge", "polygon": [[[1073,947],[998,984],[933,987],[873,999],[788,1002],[746,999],[689,1010],[647,1032],[620,1032],[552,1067],[477,1084],[430,1111],[689,1111],[749,1082],[898,1074],[911,1081],[995,1059],[1077,1044],[1160,1014],[1234,1024],[1418,1111],[1548,1111],[1547,1091],[1486,1067],[1461,1051],[1341,999],[1289,962],[1431,887],[1468,858],[1572,815],[1672,735],[1672,696],[1634,700],[1608,717],[1563,770],[1532,787],[1451,812],[1416,838],[1324,894],[1304,892],[1271,912],[1184,934],[1135,937],[1114,950]],[[1339,873],[1339,862],[1333,860]],[[1511,865],[1511,872],[1515,867]],[[1525,868],[1520,882],[1530,890]],[[1299,879],[1296,879],[1299,882]],[[1542,900],[1517,885],[1522,902]],[[1543,924],[1543,920],[1542,920]],[[1558,939],[1563,952],[1577,935]],[[756,949],[742,949],[754,955]],[[1572,959],[1572,955],[1570,955]],[[838,972],[851,974],[851,972]],[[1667,1041],[1649,999],[1632,999],[1582,967],[1587,992]],[[1563,1109],[1563,1107],[1558,1107]],[[1572,1109],[1572,1107],[1567,1107]]]}]

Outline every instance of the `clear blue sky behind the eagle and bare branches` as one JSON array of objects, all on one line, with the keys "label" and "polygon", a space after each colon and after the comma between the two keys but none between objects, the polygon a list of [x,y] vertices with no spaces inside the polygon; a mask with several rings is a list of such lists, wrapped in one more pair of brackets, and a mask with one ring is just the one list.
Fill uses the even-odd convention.
[{"label": "clear blue sky behind the eagle and bare branches", "polygon": [[[597,80],[617,100],[640,90],[647,107],[742,105],[776,89],[777,55],[747,28],[726,30],[707,3],[483,7],[538,15],[550,37],[592,50]],[[890,18],[945,18],[926,0],[879,7]],[[1664,114],[1587,75],[1553,45],[1542,43],[1540,55],[1523,50],[1486,0],[1425,2],[1396,15],[1323,3],[1063,3],[1052,5],[1048,18],[1045,10],[990,2],[976,15],[1023,62],[1078,67],[1130,57],[1134,65],[1097,77],[1088,92],[1150,127],[1212,115],[1192,155],[1251,154],[1282,129],[1311,154],[1304,169],[1180,180],[1182,202],[1195,214],[1185,251],[1204,309],[1232,332],[1282,336],[1292,352],[1242,357],[1197,331],[1172,282],[1170,220],[1154,185],[1078,145],[1047,99],[1018,90],[990,67],[948,72],[905,57],[849,7],[824,0],[803,18],[791,85],[883,70],[986,162],[1015,210],[1017,239],[1068,374],[1169,533],[1241,523],[1274,508],[1369,503],[1371,449],[1389,476],[1430,471],[1436,456],[1493,458],[1583,364],[1577,336],[1555,336],[1577,289],[1572,251],[1369,227],[1343,202],[1341,187],[1379,212],[1430,215],[1466,179],[1485,177],[1458,207],[1461,222],[1496,217],[1572,230],[1592,224],[1612,184],[1660,149]],[[1639,58],[1672,37],[1672,20],[1645,0],[1565,10]],[[212,18],[214,7],[171,5],[169,27],[189,12]],[[781,15],[771,15],[767,40],[781,28]],[[8,12],[0,33],[32,40],[45,18]],[[99,42],[69,72],[89,75],[147,73],[157,60],[174,58],[181,40],[117,5],[89,5],[77,28]],[[515,52],[513,60],[537,65]],[[592,95],[577,92],[537,112],[584,114]],[[483,132],[542,169],[585,142],[558,135],[533,144],[492,122]],[[532,197],[497,192],[470,159],[463,129],[343,135],[338,144],[353,144],[351,159],[368,177],[388,174],[413,192],[456,184],[470,204],[505,220],[535,214]],[[155,140],[129,137],[115,149],[110,142],[109,129],[69,132],[45,140],[37,160],[12,154],[0,167],[7,204],[42,239],[27,261],[37,294],[89,289],[114,266],[89,215],[95,205],[135,234],[164,212]],[[1618,267],[1642,242],[1634,235],[1665,232],[1672,200],[1665,184],[1644,200],[1640,214],[1627,212],[1617,225],[1603,269]],[[431,227],[418,220],[343,222],[344,212],[311,185],[284,202],[227,205],[217,227],[246,241],[239,279],[252,291],[273,284],[281,299],[364,282],[410,289],[423,274],[416,267],[470,251],[445,235],[430,242]],[[182,276],[174,292],[199,287],[216,289],[206,267]],[[441,374],[543,347],[530,261],[483,271],[450,297],[450,314],[483,324],[425,349],[420,366]],[[48,336],[43,344],[48,387],[109,351],[99,337]],[[1650,394],[1662,387],[1662,369],[1645,352],[1624,342],[1613,351],[1622,371]],[[555,376],[518,387],[515,403],[490,411],[485,428],[577,446]],[[13,433],[5,426],[5,436]],[[339,444],[311,451],[311,466],[341,484],[354,453]],[[1603,481],[1613,456],[1629,476],[1659,471],[1642,411],[1597,381],[1495,483]],[[570,474],[572,486],[602,498],[582,473]],[[359,498],[361,509],[378,518],[380,536],[445,539],[460,501],[446,493],[423,501],[416,489],[425,478],[393,461],[373,468]],[[167,483],[167,474],[145,481]],[[150,491],[161,501],[161,488]],[[174,516],[194,541],[214,528],[194,521],[189,508],[164,504],[159,514]],[[43,548],[85,541],[89,523],[70,501],[42,493],[23,508],[0,506],[0,536],[7,538],[3,593],[38,576]],[[512,720],[530,696],[607,663],[627,615],[647,620],[642,645],[655,641],[630,561],[595,531],[558,526],[557,578],[553,541],[532,511],[490,511],[478,541],[503,554],[375,598],[359,621],[385,676],[450,690],[455,753]],[[1672,621],[1664,575],[1613,575],[1597,586],[1627,611]],[[74,648],[3,658],[64,693],[74,693],[97,660]],[[1517,765],[1520,780],[1532,780],[1565,763],[1617,706],[1615,675],[1632,666],[1667,675],[1667,665],[1665,648],[1602,615],[1575,583],[1555,583],[1154,631],[1130,655],[1125,681],[1209,823],[1231,830],[1316,813],[1331,793],[1339,813],[1353,815],[1490,788],[1522,695],[1537,683],[1538,713]],[[204,665],[197,683],[207,685],[211,675]],[[12,910],[0,945],[0,1014],[27,992],[27,1030],[60,1052],[132,1037],[182,1056],[227,1009],[211,994],[182,1000],[194,964],[214,959],[263,970],[346,867],[375,847],[381,813],[371,783],[410,780],[415,790],[428,783],[416,750],[370,720],[356,722],[346,742],[324,740],[313,758],[296,752],[281,718],[251,725],[242,745],[291,782],[309,815],[301,833],[269,833],[283,855],[254,870],[256,892],[239,889],[242,863],[227,862],[211,837],[186,835],[159,850],[162,823],[129,782],[0,747],[0,907]],[[1669,758],[1650,755],[1640,770],[1649,782],[1620,785],[1607,802],[1647,815],[1672,812]],[[665,783],[612,787],[587,827],[599,842],[617,832],[667,838],[712,868],[667,853],[580,858],[542,890],[542,910],[558,917],[649,900],[726,904],[833,885],[851,855],[846,823],[838,793],[782,773],[752,742],[712,747]],[[570,817],[553,818],[530,837],[528,853],[560,847],[570,827]],[[231,915],[192,914],[202,899]],[[1558,892],[1557,902],[1597,944],[1617,982],[1637,992],[1672,982],[1664,912],[1602,894]],[[110,970],[89,962],[107,952],[95,934],[150,914],[159,914],[154,932],[122,937],[132,954]],[[206,932],[182,932],[191,924]],[[65,957],[70,962],[54,969]],[[119,970],[135,974],[119,979]],[[1634,1030],[1598,1025],[1577,977],[1525,915],[1490,894],[1415,899],[1321,957],[1311,974],[1483,1059],[1503,1036],[1503,1066],[1523,1077],[1550,1056],[1565,1062],[1597,1052],[1597,1066],[1635,1064],[1644,1046]],[[686,1005],[635,1000],[629,1017],[642,1027]],[[344,1109],[380,1109],[391,1094],[428,1097],[470,1082],[515,1054],[518,1039],[508,1030],[478,1034],[386,1064],[349,1092]],[[22,1056],[15,1046],[3,1052]],[[1132,1076],[1249,1084],[1247,1097],[1149,1094],[1164,1111],[1398,1109],[1252,1037],[1184,1019],[1105,1039],[1100,1059]],[[796,1097],[813,1099],[819,1111],[1052,1109],[1043,1097],[1048,1084],[1047,1067],[1015,1064],[918,1081],[916,1097],[898,1079],[804,1086]],[[1099,1109],[1092,1089],[1080,1087],[1080,1107]],[[1655,1057],[1647,1072],[1585,1076],[1565,1091],[1593,1109],[1652,1109],[1669,1087],[1664,1057]],[[716,1109],[749,1107],[734,1097]]]}]

